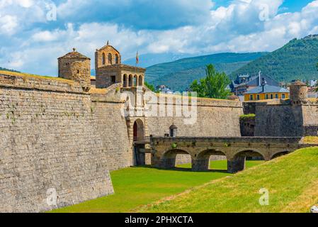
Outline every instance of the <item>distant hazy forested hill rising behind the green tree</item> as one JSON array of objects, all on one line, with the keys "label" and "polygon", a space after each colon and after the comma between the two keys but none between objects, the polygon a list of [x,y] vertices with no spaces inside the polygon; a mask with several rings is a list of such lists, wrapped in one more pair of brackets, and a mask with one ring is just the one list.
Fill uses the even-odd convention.
[{"label": "distant hazy forested hill rising behind the green tree", "polygon": [[219,72],[231,74],[231,72],[266,54],[267,52],[220,53],[184,58],[147,67],[146,80],[155,86],[165,84],[174,91],[185,91],[194,79],[205,77],[205,68],[208,64],[215,65]]}]

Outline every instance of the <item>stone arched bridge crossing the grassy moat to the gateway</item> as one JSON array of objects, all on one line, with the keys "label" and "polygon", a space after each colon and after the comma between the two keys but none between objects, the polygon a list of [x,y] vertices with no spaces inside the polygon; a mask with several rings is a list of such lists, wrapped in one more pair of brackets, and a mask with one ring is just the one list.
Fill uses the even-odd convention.
[{"label": "stone arched bridge crossing the grassy moat to the gateway", "polygon": [[301,143],[302,138],[269,137],[205,137],[168,138],[151,137],[152,165],[161,169],[175,167],[176,155],[191,155],[193,171],[209,170],[211,155],[227,158],[227,172],[244,170],[246,157],[272,160],[310,145]]}]

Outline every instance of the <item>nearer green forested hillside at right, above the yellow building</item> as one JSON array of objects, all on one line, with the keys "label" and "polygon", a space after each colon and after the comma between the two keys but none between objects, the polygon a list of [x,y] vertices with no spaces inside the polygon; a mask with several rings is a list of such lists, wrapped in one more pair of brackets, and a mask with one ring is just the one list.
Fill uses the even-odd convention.
[{"label": "nearer green forested hillside at right, above the yellow building", "polygon": [[274,52],[260,57],[232,72],[230,77],[237,74],[263,74],[276,79],[278,82],[290,82],[293,79],[317,79],[318,35],[309,35],[302,39],[291,40]]}]

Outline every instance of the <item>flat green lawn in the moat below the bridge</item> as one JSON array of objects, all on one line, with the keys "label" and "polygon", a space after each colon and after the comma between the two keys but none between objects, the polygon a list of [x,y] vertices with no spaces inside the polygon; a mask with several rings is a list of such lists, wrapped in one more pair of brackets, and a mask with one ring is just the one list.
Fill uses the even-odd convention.
[{"label": "flat green lawn in the moat below the bridge", "polygon": [[[246,162],[246,167],[260,162]],[[214,161],[211,172],[190,172],[190,165],[181,165],[176,170],[158,170],[151,167],[130,167],[110,172],[115,194],[82,204],[57,209],[52,212],[129,212],[166,196],[184,192],[214,179],[229,176],[226,161]],[[223,171],[222,171],[223,170]]]}]

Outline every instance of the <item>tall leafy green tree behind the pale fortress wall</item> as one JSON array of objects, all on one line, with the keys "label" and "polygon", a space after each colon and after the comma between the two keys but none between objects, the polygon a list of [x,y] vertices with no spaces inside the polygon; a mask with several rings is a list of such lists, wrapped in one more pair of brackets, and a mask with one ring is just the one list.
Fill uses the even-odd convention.
[{"label": "tall leafy green tree behind the pale fortress wall", "polygon": [[193,92],[197,92],[199,97],[211,99],[227,99],[230,91],[227,85],[230,83],[229,77],[225,72],[217,72],[213,65],[207,65],[205,70],[206,77],[193,81],[190,88]]}]

